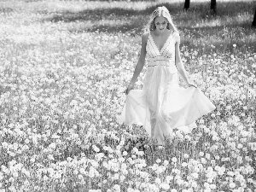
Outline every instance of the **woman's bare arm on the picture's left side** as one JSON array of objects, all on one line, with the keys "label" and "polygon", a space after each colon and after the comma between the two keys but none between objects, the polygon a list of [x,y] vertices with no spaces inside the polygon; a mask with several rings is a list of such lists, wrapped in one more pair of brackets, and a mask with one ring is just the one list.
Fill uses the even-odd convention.
[{"label": "woman's bare arm on the picture's left side", "polygon": [[148,41],[148,34],[149,34],[148,32],[143,34],[141,54],[140,54],[139,59],[137,61],[137,65],[136,65],[134,73],[132,75],[131,82],[128,85],[127,89],[125,90],[125,94],[126,95],[133,88],[133,86],[134,86],[134,84],[135,84],[135,82],[137,80],[137,77],[139,76],[139,74],[141,73],[141,71],[143,70],[143,67],[145,65],[145,57],[146,57],[146,53],[147,53],[146,45],[147,45],[147,41]]}]

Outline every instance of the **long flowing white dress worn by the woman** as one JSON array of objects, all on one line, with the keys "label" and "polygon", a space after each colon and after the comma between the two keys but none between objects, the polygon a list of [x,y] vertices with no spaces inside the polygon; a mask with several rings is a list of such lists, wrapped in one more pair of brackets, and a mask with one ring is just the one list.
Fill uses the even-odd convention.
[{"label": "long flowing white dress worn by the woman", "polygon": [[179,87],[175,65],[175,42],[171,33],[159,50],[149,33],[146,45],[148,70],[143,90],[130,90],[120,123],[143,125],[148,135],[159,144],[173,137],[174,129],[189,131],[195,120],[215,109],[199,88]]}]

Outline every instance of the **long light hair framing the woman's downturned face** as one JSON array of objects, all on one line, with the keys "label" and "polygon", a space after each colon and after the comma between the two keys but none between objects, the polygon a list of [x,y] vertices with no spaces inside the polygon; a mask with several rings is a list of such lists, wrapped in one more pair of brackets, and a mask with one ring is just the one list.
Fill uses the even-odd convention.
[{"label": "long light hair framing the woman's downturned face", "polygon": [[156,28],[154,25],[154,19],[158,16],[163,16],[166,18],[166,20],[168,20],[167,29],[170,29],[173,32],[178,32],[177,27],[174,26],[174,24],[172,22],[171,15],[165,6],[158,7],[157,9],[154,9],[153,13],[150,15],[150,19],[148,21],[147,26],[145,26],[145,28],[144,28],[144,32],[149,32]]}]

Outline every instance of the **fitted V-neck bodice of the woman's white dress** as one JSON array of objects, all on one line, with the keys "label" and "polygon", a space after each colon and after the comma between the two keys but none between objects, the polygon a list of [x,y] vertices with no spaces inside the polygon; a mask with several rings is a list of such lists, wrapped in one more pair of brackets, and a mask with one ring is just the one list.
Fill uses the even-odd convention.
[{"label": "fitted V-neck bodice of the woman's white dress", "polygon": [[[171,63],[172,64],[175,63],[175,42],[173,41],[173,33],[171,33],[170,36],[166,39],[166,42],[165,44],[163,44],[163,47],[159,49],[154,42],[154,38],[149,32],[146,51],[147,51],[148,66],[152,66],[152,65],[168,66],[168,65],[171,65]],[[161,62],[156,63],[157,61],[161,61]]]}]

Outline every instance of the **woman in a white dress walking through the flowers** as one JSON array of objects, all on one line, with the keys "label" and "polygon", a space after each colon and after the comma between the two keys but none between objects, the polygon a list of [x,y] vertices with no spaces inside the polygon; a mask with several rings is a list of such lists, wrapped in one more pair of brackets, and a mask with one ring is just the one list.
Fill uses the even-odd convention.
[{"label": "woman in a white dress walking through the flowers", "polygon": [[[174,129],[194,128],[195,120],[215,106],[186,75],[179,51],[180,37],[166,7],[154,10],[147,29],[131,83],[125,90],[126,102],[120,122],[143,125],[148,135],[162,145],[166,137],[175,136]],[[132,90],[146,55],[148,70],[143,90]],[[189,88],[178,86],[177,72]]]}]

